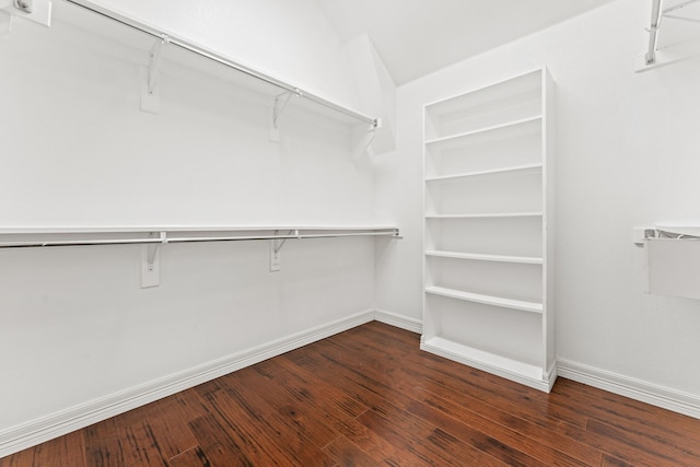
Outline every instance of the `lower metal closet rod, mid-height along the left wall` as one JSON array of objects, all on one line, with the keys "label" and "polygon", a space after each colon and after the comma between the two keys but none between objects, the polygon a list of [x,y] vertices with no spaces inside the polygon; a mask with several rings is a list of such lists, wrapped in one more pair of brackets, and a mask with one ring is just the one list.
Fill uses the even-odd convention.
[{"label": "lower metal closet rod, mid-height along the left wall", "polygon": [[149,245],[168,243],[194,243],[194,242],[241,242],[254,240],[304,240],[304,238],[334,238],[348,236],[393,236],[399,237],[398,229],[383,229],[376,232],[351,232],[351,233],[316,233],[305,234],[298,230],[294,234],[285,235],[232,235],[232,236],[182,236],[182,237],[148,237],[148,238],[95,238],[95,240],[46,240],[46,241],[19,241],[0,242],[0,248],[40,248],[55,246],[92,246],[92,245]]}]

